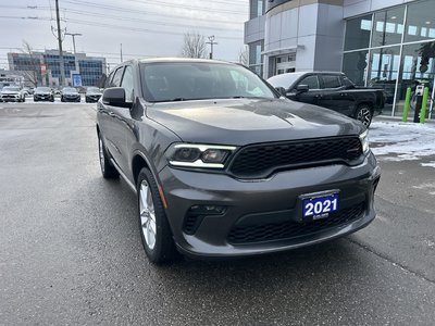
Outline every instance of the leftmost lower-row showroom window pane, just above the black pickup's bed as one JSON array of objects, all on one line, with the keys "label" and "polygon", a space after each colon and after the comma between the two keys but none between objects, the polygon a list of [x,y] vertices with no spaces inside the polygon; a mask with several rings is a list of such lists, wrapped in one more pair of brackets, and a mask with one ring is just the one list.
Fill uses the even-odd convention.
[{"label": "leftmost lower-row showroom window pane, just above the black pickup's bed", "polygon": [[345,53],[343,72],[358,86],[365,85],[365,75],[369,66],[369,50]]}]

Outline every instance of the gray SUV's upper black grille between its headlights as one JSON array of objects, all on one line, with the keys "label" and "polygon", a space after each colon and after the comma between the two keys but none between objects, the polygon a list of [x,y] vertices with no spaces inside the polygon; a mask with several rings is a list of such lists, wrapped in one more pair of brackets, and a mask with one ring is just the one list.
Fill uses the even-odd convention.
[{"label": "gray SUV's upper black grille between its headlights", "polygon": [[228,171],[240,178],[265,177],[276,170],[350,162],[361,154],[358,137],[261,143],[243,148],[229,163]]}]

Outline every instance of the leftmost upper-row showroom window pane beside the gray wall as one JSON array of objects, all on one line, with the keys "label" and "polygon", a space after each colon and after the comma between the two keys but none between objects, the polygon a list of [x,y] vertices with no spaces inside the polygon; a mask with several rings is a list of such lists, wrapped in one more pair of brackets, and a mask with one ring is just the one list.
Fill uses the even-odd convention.
[{"label": "leftmost upper-row showroom window pane beside the gray wall", "polygon": [[345,51],[369,48],[371,29],[372,15],[347,21]]}]

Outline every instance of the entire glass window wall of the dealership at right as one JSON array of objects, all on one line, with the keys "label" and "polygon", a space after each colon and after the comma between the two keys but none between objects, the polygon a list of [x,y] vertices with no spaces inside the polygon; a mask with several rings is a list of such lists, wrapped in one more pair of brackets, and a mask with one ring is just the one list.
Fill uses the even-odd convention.
[{"label": "entire glass window wall of the dealership at right", "polygon": [[422,0],[346,22],[343,72],[359,86],[383,88],[384,114],[401,115],[411,88],[428,87],[427,114],[435,118],[435,1]]}]

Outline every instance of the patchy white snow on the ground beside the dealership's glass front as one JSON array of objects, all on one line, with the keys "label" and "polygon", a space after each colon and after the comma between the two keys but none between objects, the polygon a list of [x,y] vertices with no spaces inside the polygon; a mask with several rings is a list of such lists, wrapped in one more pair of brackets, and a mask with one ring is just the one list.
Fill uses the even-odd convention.
[{"label": "patchy white snow on the ground beside the dealership's glass front", "polygon": [[[412,161],[435,155],[435,125],[432,124],[373,122],[369,140],[375,155],[386,161]],[[435,167],[435,162],[422,165]]]}]

